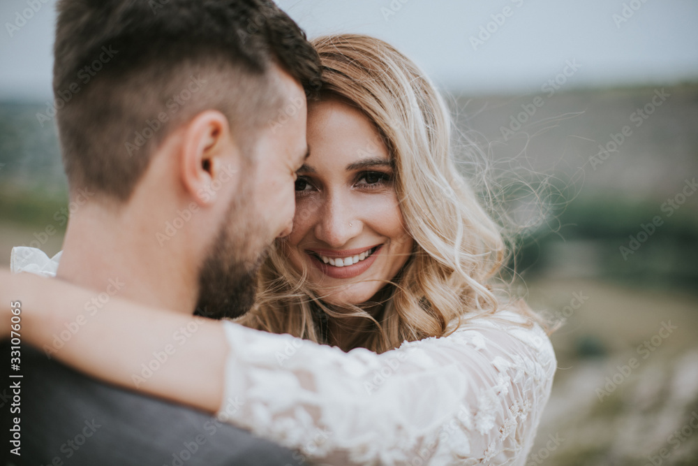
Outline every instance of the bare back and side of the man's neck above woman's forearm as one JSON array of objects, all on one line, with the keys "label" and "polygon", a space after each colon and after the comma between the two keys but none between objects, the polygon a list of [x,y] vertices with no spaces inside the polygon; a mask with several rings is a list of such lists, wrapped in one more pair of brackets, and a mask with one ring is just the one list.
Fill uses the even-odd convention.
[{"label": "bare back and side of the man's neck above woman's forearm", "polygon": [[197,270],[185,256],[158,245],[138,214],[83,205],[70,218],[57,277],[138,303],[191,314]]}]

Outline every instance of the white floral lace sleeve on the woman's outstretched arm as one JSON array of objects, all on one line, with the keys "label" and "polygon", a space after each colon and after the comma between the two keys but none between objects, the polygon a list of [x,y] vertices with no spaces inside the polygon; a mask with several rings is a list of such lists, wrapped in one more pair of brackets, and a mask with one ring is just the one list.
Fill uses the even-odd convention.
[{"label": "white floral lace sleeve on the woman's outstretched arm", "polygon": [[556,360],[499,312],[393,351],[338,348],[225,323],[223,420],[338,465],[523,465]]}]

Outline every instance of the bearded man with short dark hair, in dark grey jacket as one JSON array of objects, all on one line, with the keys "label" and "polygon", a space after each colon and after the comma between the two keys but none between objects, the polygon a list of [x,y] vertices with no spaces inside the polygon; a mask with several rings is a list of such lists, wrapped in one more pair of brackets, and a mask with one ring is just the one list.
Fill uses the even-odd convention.
[{"label": "bearded man with short dark hair, in dark grey jacket", "polygon": [[[265,248],[290,231],[308,154],[306,92],[320,64],[304,33],[269,0],[61,0],[57,10],[61,152],[71,199],[91,193],[70,217],[57,277],[94,289],[86,314],[112,295],[214,318],[244,312]],[[23,356],[15,464],[299,464],[215,418]]]}]

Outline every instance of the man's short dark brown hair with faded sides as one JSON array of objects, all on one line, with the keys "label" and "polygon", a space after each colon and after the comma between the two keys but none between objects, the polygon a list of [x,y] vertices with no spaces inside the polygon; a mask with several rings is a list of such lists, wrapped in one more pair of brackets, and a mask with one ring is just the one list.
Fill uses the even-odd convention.
[{"label": "man's short dark brown hair with faded sides", "polygon": [[251,143],[283,104],[270,68],[320,85],[318,54],[269,0],[61,0],[53,90],[70,189],[126,201],[154,148],[202,110]]}]

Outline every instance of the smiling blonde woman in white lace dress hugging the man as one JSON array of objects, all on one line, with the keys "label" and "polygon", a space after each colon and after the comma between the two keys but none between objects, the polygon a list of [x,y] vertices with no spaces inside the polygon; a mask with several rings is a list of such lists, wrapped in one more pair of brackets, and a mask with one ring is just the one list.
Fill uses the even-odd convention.
[{"label": "smiling blonde woman in white lace dress hugging the man", "polygon": [[[556,360],[535,314],[493,289],[507,251],[456,169],[448,111],[383,41],[314,45],[311,154],[253,310],[211,321],[111,298],[47,352],[313,463],[523,465]],[[3,299],[28,297],[24,340],[45,349],[92,296],[29,274],[6,283]]]}]

